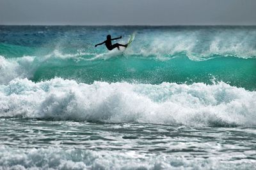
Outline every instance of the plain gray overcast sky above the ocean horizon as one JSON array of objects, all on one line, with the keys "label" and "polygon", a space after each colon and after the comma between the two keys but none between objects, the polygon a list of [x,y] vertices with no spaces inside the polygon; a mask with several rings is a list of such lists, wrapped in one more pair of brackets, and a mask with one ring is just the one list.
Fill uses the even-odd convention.
[{"label": "plain gray overcast sky above the ocean horizon", "polygon": [[255,0],[0,0],[0,25],[256,25]]}]

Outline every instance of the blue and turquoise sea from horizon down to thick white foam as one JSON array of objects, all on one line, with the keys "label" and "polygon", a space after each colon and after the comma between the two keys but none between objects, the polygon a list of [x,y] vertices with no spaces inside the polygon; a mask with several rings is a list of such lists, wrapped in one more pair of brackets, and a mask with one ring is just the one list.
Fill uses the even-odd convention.
[{"label": "blue and turquoise sea from horizon down to thick white foam", "polygon": [[[160,84],[223,81],[255,90],[256,27],[0,27],[1,83],[55,77]],[[123,36],[131,46],[95,44]]]}]

